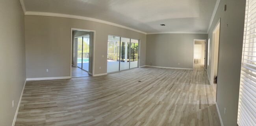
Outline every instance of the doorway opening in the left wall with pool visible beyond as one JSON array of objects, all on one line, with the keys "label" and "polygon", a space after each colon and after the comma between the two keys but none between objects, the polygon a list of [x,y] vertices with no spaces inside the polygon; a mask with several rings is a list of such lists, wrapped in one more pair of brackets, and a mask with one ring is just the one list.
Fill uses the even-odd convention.
[{"label": "doorway opening in the left wall with pool visible beyond", "polygon": [[72,29],[71,78],[92,75],[93,36],[92,31]]}]

